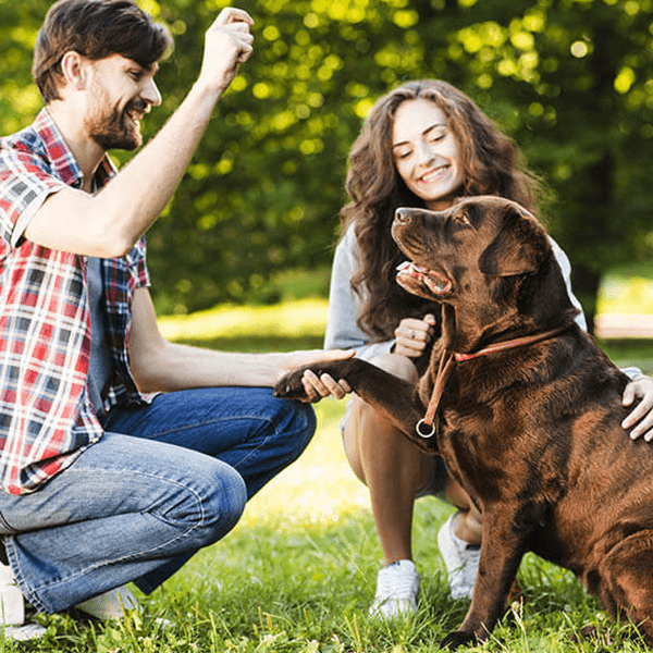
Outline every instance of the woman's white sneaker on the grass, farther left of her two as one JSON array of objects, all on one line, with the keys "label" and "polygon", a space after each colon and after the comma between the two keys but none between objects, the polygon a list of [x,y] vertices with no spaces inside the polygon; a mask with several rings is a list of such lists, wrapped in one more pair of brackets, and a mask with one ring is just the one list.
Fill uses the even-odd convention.
[{"label": "woman's white sneaker on the grass, farther left of her two", "polygon": [[417,612],[419,574],[412,560],[398,560],[381,569],[377,576],[377,594],[370,615],[394,619]]}]

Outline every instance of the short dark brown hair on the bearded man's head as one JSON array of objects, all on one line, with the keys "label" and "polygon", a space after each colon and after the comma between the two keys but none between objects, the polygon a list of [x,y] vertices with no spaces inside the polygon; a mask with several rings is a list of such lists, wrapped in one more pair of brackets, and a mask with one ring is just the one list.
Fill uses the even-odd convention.
[{"label": "short dark brown hair on the bearded man's head", "polygon": [[94,61],[122,54],[148,67],[171,48],[168,28],[132,0],[59,0],[36,37],[32,74],[49,102],[61,99],[61,59],[71,50]]}]

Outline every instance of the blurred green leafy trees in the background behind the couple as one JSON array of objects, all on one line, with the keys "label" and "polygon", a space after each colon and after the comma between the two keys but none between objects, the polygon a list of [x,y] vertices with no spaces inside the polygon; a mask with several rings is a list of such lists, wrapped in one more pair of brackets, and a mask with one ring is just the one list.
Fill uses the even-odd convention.
[{"label": "blurred green leafy trees in the background behind the couple", "polygon": [[[653,0],[233,3],[256,21],[255,54],[148,234],[160,312],[266,297],[271,274],[329,264],[361,121],[380,95],[421,77],[471,96],[543,176],[544,218],[590,318],[604,270],[651,259]],[[224,4],[141,0],[176,42],[146,138],[194,82],[204,32]],[[1,133],[40,108],[29,67],[49,5],[0,0]]]}]

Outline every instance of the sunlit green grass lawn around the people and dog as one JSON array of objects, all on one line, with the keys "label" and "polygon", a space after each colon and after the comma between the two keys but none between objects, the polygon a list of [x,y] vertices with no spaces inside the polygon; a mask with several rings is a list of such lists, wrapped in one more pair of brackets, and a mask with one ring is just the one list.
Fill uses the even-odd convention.
[{"label": "sunlit green grass lawn around the people and dog", "polygon": [[[223,307],[161,319],[171,338],[222,349],[320,347],[325,303],[294,299],[275,307]],[[653,360],[648,341],[607,343],[618,362]],[[653,366],[651,366],[653,367]],[[648,369],[651,369],[649,367]],[[452,508],[417,503],[414,547],[422,577],[418,614],[393,625],[368,617],[381,559],[365,488],[349,470],[338,423],[344,403],[317,405],[318,430],[305,455],[248,505],[222,542],[143,599],[143,617],[103,625],[71,615],[39,617],[46,637],[22,651],[70,653],[404,653],[436,651],[466,601],[448,599],[435,543]],[[629,624],[614,624],[571,576],[532,555],[525,558],[516,602],[490,642],[469,651],[648,651]],[[163,617],[167,628],[157,624]],[[595,628],[589,640],[579,637]],[[0,641],[1,651],[17,651]]]}]

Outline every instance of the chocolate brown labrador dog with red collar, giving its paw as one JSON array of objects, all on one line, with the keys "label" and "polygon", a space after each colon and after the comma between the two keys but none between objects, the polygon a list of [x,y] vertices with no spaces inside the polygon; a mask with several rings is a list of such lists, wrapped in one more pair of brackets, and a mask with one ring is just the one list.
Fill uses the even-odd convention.
[{"label": "chocolate brown labrador dog with red collar, giving its paw", "polygon": [[[482,512],[471,605],[442,645],[488,638],[527,551],[572,570],[651,645],[653,448],[620,426],[628,379],[576,324],[544,229],[484,196],[399,209],[392,233],[410,259],[398,283],[442,306],[429,369],[417,385],[359,359],[311,369],[442,455]],[[305,396],[301,374],[276,395]]]}]

